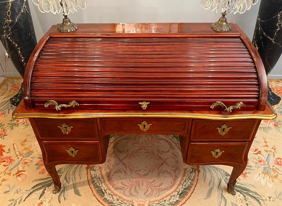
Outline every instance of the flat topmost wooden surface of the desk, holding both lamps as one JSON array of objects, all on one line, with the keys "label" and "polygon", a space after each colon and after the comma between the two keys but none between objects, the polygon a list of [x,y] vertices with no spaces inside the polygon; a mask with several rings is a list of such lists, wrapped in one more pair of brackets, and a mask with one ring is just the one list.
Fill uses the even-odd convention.
[{"label": "flat topmost wooden surface of the desk, holding both lamps", "polygon": [[[217,36],[240,36],[243,34],[242,30],[237,24],[230,23],[232,30],[229,32],[218,32],[212,30],[210,25],[212,23],[84,23],[77,24],[79,27],[73,32],[58,32],[57,28],[60,24],[53,25],[43,38],[47,38],[48,35],[52,37],[67,37],[74,36],[109,36],[110,34],[134,34],[150,35],[150,34],[190,34],[190,35],[217,35]],[[248,38],[244,34],[244,39]]]}]

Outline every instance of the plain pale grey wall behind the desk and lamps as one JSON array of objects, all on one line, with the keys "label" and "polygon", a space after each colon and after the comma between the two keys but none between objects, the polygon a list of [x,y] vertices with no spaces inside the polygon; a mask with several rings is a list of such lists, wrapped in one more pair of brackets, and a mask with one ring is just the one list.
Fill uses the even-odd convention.
[{"label": "plain pale grey wall behind the desk and lamps", "polygon": [[[176,3],[177,2],[177,3]],[[69,18],[75,23],[131,23],[131,22],[215,22],[221,16],[211,10],[204,10],[201,0],[88,0],[85,10],[70,14]],[[47,32],[51,25],[61,23],[61,14],[41,13],[37,6],[28,0],[34,22],[37,40]],[[229,14],[227,20],[237,23],[252,39],[259,2],[244,14]],[[5,51],[0,46],[0,61],[4,63]],[[282,58],[268,76],[282,78]],[[9,63],[10,76],[18,76],[12,63]],[[2,70],[0,68],[0,70]],[[3,75],[3,71],[0,71]]]}]

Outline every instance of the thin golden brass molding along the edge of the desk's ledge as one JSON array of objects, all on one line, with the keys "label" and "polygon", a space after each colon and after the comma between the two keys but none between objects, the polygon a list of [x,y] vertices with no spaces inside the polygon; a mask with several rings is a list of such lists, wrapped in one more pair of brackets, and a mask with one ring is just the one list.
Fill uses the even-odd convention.
[{"label": "thin golden brass molding along the edge of the desk's ledge", "polygon": [[76,113],[76,114],[56,114],[56,113],[17,113],[18,107],[13,111],[12,116],[15,118],[50,118],[50,119],[85,119],[85,118],[102,118],[102,117],[167,117],[167,118],[189,118],[189,119],[210,119],[210,120],[235,120],[235,119],[275,119],[277,117],[276,111],[270,106],[272,110],[271,115],[262,114],[244,114],[244,115],[211,115],[211,114],[195,114],[195,113],[166,113],[166,112],[146,112],[146,113]]}]

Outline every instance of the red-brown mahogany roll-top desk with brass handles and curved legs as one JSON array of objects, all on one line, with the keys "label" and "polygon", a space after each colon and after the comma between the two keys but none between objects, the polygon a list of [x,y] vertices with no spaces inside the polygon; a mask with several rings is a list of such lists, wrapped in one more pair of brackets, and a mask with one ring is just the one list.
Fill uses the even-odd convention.
[{"label": "red-brown mahogany roll-top desk with brass handles and curved legs", "polygon": [[184,163],[246,168],[267,104],[262,61],[238,25],[54,25],[28,62],[16,118],[29,118],[60,190],[59,164],[101,164],[110,134],[179,135]]}]

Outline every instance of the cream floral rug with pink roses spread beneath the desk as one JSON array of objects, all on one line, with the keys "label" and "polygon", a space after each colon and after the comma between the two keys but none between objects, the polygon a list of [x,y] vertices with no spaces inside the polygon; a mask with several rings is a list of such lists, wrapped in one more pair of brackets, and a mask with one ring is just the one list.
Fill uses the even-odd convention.
[{"label": "cream floral rug with pink roses spread beneath the desk", "polygon": [[[226,189],[232,168],[185,165],[175,135],[113,135],[104,164],[58,165],[62,187],[52,194],[28,119],[11,115],[21,81],[9,78],[0,96],[1,206],[282,205],[282,102],[276,119],[262,121],[235,196]],[[269,83],[282,96],[282,80]]]}]

